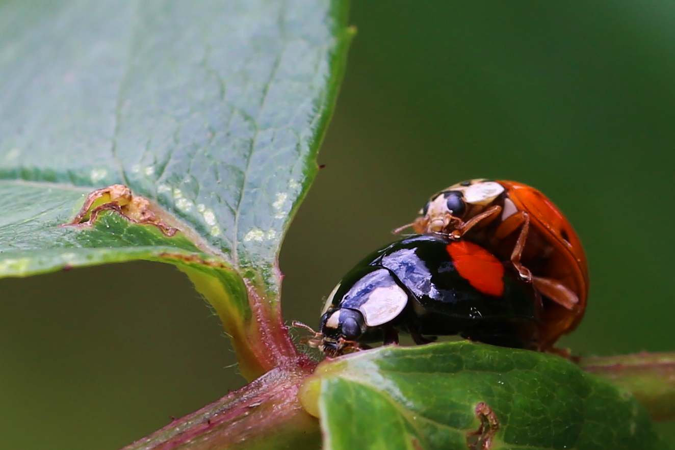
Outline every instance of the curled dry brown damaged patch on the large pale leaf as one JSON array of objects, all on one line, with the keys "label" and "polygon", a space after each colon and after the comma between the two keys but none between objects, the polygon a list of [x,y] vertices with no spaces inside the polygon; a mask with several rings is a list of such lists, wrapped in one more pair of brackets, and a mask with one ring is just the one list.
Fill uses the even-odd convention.
[{"label": "curled dry brown damaged patch on the large pale leaf", "polygon": [[175,235],[178,228],[167,225],[154,209],[159,210],[146,198],[132,194],[124,184],[113,184],[107,188],[95,190],[86,196],[80,212],[72,221],[62,226],[91,226],[99,214],[111,210],[131,223],[154,225],[169,237]]}]

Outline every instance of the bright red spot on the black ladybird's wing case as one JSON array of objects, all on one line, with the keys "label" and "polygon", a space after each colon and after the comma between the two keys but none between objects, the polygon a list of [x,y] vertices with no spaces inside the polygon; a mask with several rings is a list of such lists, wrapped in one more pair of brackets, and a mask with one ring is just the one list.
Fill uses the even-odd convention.
[{"label": "bright red spot on the black ladybird's wing case", "polygon": [[504,264],[485,248],[472,242],[450,242],[448,254],[460,276],[489,296],[504,293]]}]

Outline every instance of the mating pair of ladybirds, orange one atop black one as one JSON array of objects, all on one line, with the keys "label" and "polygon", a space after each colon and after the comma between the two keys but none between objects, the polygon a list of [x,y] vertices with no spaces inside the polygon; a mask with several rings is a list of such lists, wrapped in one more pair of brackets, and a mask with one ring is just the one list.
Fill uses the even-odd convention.
[{"label": "mating pair of ladybirds, orange one atop black one", "polygon": [[556,351],[581,320],[586,257],[570,223],[538,190],[463,181],[431,197],[407,226],[418,235],[367,256],[327,298],[311,340],[327,356],[398,342],[399,331],[416,343],[461,335]]}]

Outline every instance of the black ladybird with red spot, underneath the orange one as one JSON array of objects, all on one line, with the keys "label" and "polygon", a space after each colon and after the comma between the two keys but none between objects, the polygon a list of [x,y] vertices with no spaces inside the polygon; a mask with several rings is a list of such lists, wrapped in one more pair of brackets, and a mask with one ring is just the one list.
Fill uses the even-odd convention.
[{"label": "black ladybird with red spot, underneath the orange one", "polygon": [[[317,337],[327,356],[398,343],[460,335],[504,347],[538,345],[541,302],[487,250],[443,234],[413,235],[356,264],[328,296]],[[425,336],[432,336],[431,339]]]}]

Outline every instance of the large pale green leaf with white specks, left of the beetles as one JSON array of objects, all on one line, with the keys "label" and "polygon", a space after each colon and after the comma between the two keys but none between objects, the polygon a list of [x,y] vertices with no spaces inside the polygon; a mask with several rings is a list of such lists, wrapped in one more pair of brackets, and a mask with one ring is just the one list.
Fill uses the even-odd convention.
[{"label": "large pale green leaf with white specks, left of the beetles", "polygon": [[[276,258],[351,34],[338,0],[0,3],[0,276],[171,262],[258,360],[249,377],[296,356]],[[112,184],[155,225],[59,226]]]}]

